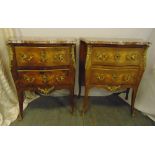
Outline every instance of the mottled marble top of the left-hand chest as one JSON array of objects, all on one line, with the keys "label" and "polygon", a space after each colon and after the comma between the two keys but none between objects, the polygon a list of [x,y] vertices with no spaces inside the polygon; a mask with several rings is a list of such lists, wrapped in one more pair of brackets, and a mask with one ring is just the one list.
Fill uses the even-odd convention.
[{"label": "mottled marble top of the left-hand chest", "polygon": [[76,44],[75,38],[44,38],[44,37],[19,37],[10,38],[8,44]]}]

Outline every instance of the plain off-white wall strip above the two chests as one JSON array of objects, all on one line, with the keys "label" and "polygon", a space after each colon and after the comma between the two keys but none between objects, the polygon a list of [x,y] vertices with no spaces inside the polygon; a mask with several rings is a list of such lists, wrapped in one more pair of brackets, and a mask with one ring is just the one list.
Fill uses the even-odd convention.
[{"label": "plain off-white wall strip above the two chests", "polygon": [[17,35],[37,37],[102,37],[102,38],[139,38],[148,40],[152,29],[149,28],[61,28],[61,29],[17,29]]}]

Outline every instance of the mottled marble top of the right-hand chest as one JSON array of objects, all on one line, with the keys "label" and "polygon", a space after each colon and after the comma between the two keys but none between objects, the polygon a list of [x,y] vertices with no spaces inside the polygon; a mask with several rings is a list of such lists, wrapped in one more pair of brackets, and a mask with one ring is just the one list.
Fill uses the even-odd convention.
[{"label": "mottled marble top of the right-hand chest", "polygon": [[108,45],[145,45],[149,46],[150,42],[142,39],[128,39],[128,38],[81,38],[87,44],[108,44]]}]

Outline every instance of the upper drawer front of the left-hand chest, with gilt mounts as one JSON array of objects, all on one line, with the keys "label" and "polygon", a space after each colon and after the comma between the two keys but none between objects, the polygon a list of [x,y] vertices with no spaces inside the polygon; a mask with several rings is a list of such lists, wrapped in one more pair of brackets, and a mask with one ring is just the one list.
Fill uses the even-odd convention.
[{"label": "upper drawer front of the left-hand chest, with gilt mounts", "polygon": [[17,66],[63,66],[71,60],[70,47],[16,47]]}]

